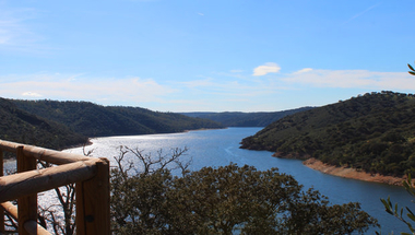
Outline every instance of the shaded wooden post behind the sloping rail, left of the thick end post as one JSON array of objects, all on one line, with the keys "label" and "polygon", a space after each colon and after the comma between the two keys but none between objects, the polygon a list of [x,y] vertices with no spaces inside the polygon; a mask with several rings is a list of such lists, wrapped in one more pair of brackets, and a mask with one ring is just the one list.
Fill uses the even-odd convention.
[{"label": "shaded wooden post behind the sloping rail, left of the thick end post", "polygon": [[[17,146],[17,173],[36,169],[36,158],[26,157],[23,153],[23,145]],[[24,223],[28,220],[37,222],[37,193],[21,197],[17,199],[17,215],[19,215],[19,234],[28,235],[24,228]]]}]

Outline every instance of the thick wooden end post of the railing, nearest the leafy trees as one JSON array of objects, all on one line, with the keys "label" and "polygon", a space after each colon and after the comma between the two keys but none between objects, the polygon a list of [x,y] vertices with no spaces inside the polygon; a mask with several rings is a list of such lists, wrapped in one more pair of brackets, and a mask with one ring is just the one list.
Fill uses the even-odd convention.
[{"label": "thick wooden end post of the railing, nearest the leafy trees", "polygon": [[96,163],[96,175],[75,184],[76,234],[110,235],[109,161]]}]

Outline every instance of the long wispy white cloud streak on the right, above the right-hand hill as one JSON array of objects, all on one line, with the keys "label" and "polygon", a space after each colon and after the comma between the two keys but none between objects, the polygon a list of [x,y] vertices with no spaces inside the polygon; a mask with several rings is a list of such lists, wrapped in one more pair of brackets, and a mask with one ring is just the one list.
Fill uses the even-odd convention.
[{"label": "long wispy white cloud streak on the right, above the right-hand hill", "polygon": [[[271,64],[269,64],[271,67]],[[266,74],[264,69],[260,74]],[[241,75],[244,77],[244,75]],[[215,73],[213,77],[177,83],[177,87],[194,95],[213,94],[218,97],[253,97],[275,94],[283,91],[319,89],[358,89],[380,90],[415,90],[415,79],[406,72],[378,72],[368,70],[324,70],[305,68],[292,73],[277,74],[265,80],[248,80],[236,78],[232,73]]]}]

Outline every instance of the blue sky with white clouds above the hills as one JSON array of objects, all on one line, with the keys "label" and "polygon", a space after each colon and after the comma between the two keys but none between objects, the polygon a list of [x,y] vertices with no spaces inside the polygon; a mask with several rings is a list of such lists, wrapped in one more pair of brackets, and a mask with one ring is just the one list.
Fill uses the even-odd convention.
[{"label": "blue sky with white clouds above the hills", "polygon": [[276,111],[415,93],[415,2],[0,0],[0,96]]}]

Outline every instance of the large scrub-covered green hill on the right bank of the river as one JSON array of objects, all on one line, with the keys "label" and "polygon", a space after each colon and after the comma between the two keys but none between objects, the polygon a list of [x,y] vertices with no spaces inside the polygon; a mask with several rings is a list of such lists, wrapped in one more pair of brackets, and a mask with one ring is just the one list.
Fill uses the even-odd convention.
[{"label": "large scrub-covered green hill on the right bank of the river", "polygon": [[284,117],[242,140],[276,156],[313,156],[368,173],[415,175],[415,96],[367,93]]}]

